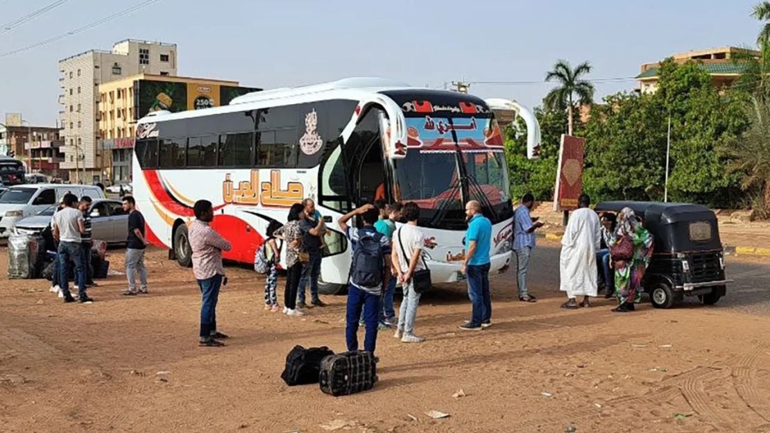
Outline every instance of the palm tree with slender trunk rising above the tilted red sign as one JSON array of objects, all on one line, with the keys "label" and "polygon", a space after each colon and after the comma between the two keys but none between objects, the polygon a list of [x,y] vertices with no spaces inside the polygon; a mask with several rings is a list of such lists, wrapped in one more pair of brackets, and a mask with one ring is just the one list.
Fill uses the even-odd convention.
[{"label": "palm tree with slender trunk rising above the tilted red sign", "polygon": [[[551,89],[545,96],[544,102],[547,109],[567,109],[567,133],[572,135],[572,118],[574,102],[588,105],[594,102],[594,85],[582,76],[591,72],[591,64],[582,62],[575,69],[571,69],[566,60],[558,60],[554,69],[545,75],[545,81],[556,81],[559,86]],[[577,98],[574,98],[577,96]]]}]

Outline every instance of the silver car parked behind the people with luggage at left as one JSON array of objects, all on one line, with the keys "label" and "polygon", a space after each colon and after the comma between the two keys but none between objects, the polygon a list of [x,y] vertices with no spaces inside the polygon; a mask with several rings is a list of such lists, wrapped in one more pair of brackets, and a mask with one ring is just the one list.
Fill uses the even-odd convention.
[{"label": "silver car parked behind the people with luggage at left", "polygon": [[[49,206],[32,217],[16,222],[17,233],[38,234],[51,223],[56,206]],[[92,239],[109,244],[126,243],[129,234],[129,215],[118,200],[97,199],[89,207]]]}]

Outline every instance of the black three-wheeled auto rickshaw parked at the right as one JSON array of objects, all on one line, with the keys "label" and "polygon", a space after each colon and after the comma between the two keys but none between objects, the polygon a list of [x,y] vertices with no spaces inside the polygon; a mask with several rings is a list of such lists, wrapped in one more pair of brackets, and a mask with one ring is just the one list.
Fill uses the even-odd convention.
[{"label": "black three-wheeled auto rickshaw parked at the right", "polygon": [[713,305],[725,296],[725,251],[717,217],[708,207],[687,203],[607,201],[598,213],[634,210],[654,237],[653,254],[641,287],[654,307],[671,308],[684,296]]}]

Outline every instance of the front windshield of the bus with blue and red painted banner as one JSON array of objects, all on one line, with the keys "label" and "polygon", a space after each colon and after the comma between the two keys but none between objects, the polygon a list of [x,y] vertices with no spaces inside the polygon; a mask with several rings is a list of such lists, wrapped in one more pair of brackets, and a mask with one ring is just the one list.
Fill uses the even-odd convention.
[{"label": "front windshield of the bus with blue and red painted banner", "polygon": [[[413,117],[407,118],[407,133],[407,156],[393,161],[401,201],[448,212],[450,220],[464,220],[463,203],[468,200],[487,203],[493,208],[490,213],[502,213],[500,220],[509,216],[507,164],[494,119]],[[465,197],[460,186],[463,172],[468,177]]]}]

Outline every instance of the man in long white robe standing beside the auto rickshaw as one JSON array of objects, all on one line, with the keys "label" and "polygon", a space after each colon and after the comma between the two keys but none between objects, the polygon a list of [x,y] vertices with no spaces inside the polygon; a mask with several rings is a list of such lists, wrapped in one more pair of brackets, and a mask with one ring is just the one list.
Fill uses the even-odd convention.
[{"label": "man in long white robe standing beside the auto rickshaw", "polygon": [[[561,287],[567,292],[567,302],[562,308],[591,307],[588,297],[596,296],[596,251],[601,245],[601,223],[598,215],[588,205],[591,199],[582,194],[561,238],[559,259]],[[576,298],[583,296],[577,304]]]}]

